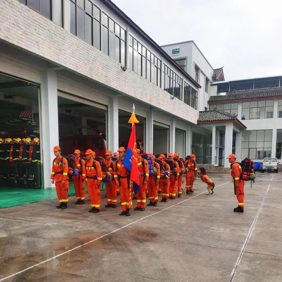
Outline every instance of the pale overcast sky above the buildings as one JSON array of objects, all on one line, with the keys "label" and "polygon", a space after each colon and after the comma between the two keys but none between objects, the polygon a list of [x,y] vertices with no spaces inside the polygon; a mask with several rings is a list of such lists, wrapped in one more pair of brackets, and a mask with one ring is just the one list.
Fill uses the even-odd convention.
[{"label": "pale overcast sky above the buildings", "polygon": [[194,40],[225,80],[282,75],[281,0],[112,0],[159,45]]}]

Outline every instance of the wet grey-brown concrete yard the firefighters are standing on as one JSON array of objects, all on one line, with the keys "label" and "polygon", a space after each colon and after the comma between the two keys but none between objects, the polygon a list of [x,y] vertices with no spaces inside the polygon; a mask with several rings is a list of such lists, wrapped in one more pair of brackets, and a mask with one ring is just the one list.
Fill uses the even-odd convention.
[{"label": "wet grey-brown concrete yard the firefighters are standing on", "polygon": [[[231,178],[196,180],[193,195],[119,216],[56,200],[0,211],[0,281],[282,281],[281,173],[245,182],[245,212],[234,213]],[[135,205],[135,201],[134,201]]]}]

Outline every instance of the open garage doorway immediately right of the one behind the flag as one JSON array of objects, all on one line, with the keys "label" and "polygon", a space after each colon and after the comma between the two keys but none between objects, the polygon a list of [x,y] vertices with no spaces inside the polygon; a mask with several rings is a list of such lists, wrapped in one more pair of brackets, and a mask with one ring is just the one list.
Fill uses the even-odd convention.
[{"label": "open garage doorway immediately right of the one behind the flag", "polygon": [[169,125],[153,122],[153,154],[167,154],[169,151]]}]

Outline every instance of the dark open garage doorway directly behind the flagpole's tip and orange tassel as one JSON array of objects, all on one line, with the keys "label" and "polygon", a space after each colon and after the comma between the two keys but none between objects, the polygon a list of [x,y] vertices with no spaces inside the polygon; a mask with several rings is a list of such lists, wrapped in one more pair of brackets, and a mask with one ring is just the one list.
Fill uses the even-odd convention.
[{"label": "dark open garage doorway directly behind the flagpole's tip and orange tassel", "polygon": [[[132,125],[128,123],[131,113],[118,110],[118,146],[127,147],[129,136],[131,133]],[[135,124],[136,130],[136,146],[140,149],[140,152],[144,152],[144,140],[145,140],[145,123],[146,118],[136,115],[139,123]]]}]

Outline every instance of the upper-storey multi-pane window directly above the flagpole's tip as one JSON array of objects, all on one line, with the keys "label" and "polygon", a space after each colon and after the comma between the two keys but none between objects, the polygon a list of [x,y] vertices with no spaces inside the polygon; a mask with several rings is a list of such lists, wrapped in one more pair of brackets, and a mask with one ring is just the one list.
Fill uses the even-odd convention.
[{"label": "upper-storey multi-pane window directly above the flagpole's tip", "polygon": [[160,86],[160,59],[129,35],[129,69]]}]

